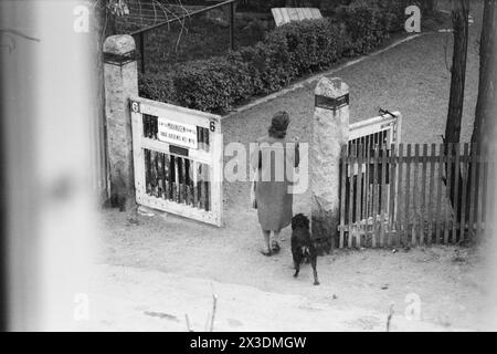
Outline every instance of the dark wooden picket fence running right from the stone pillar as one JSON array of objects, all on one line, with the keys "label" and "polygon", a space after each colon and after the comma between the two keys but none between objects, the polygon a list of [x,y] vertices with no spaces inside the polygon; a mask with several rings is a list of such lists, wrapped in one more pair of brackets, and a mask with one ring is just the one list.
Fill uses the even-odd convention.
[{"label": "dark wooden picket fence running right from the stone pillar", "polygon": [[470,239],[485,229],[489,162],[469,144],[343,146],[339,247]]}]

